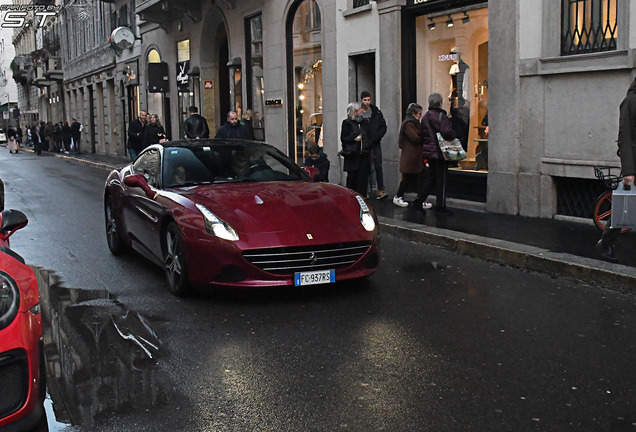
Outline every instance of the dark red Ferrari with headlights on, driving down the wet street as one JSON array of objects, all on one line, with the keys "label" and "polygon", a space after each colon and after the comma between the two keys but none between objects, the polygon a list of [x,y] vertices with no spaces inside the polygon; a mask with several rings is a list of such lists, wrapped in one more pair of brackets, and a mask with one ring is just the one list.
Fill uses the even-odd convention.
[{"label": "dark red Ferrari with headlights on, driving down the wet street", "polygon": [[362,278],[380,262],[363,197],[311,181],[276,148],[242,140],[164,142],[114,170],[104,194],[113,254],[160,265],[170,291],[191,285],[311,285]]}]

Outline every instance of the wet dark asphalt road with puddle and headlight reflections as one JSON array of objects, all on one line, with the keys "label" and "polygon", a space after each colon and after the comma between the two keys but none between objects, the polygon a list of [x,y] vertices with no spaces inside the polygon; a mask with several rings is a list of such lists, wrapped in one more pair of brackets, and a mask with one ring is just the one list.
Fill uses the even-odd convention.
[{"label": "wet dark asphalt road with puddle and headlight reflections", "polygon": [[105,177],[0,149],[12,246],[61,277],[51,430],[636,430],[634,296],[385,236],[364,283],[175,299],[108,252]]}]

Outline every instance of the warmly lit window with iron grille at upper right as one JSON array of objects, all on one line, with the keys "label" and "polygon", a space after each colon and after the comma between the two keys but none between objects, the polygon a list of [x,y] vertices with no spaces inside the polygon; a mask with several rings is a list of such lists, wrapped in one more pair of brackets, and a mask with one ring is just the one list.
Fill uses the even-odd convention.
[{"label": "warmly lit window with iron grille at upper right", "polygon": [[616,50],[619,0],[561,1],[561,55]]}]

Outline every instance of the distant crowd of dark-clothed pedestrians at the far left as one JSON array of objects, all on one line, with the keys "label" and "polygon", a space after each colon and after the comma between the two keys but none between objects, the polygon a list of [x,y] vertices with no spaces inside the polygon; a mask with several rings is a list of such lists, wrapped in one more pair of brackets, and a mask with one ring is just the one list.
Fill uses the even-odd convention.
[{"label": "distant crowd of dark-clothed pedestrians at the far left", "polygon": [[[26,145],[32,145],[35,153],[39,156],[44,151],[80,152],[83,126],[73,118],[71,124],[68,121],[58,122],[35,122],[30,128],[26,128]],[[7,140],[9,141],[9,152],[18,153],[23,144],[25,134],[18,124],[15,128],[9,126]]]}]

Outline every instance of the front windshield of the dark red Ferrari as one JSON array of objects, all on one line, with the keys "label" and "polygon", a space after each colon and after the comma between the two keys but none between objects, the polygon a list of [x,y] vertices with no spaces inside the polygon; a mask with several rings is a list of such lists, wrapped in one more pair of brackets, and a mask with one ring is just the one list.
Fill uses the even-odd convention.
[{"label": "front windshield of the dark red Ferrari", "polygon": [[164,187],[308,180],[298,165],[272,146],[245,142],[207,144],[166,147],[162,163]]}]

